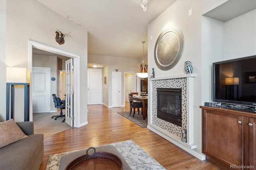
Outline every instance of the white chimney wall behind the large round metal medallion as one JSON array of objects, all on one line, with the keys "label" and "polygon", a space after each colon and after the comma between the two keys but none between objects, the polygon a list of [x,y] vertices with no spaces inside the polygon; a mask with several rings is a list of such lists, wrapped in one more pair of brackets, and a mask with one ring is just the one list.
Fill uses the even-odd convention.
[{"label": "white chimney wall behind the large round metal medallion", "polygon": [[[202,105],[202,15],[216,6],[224,3],[224,0],[177,0],[148,25],[148,69],[154,68],[155,77],[168,77],[172,75],[186,74],[184,72],[184,62],[190,60],[193,65],[194,73],[194,143],[197,148],[194,151],[202,152],[201,135],[201,110]],[[188,16],[188,11],[192,9],[192,15]],[[176,66],[167,71],[160,70],[154,61],[154,47],[158,36],[166,28],[171,26],[178,27],[184,36],[184,51]],[[150,37],[152,36],[152,40]],[[207,77],[208,81],[208,77]],[[207,92],[209,93],[209,92]],[[151,95],[151,94],[149,94]],[[151,98],[151,97],[149,97]]]}]

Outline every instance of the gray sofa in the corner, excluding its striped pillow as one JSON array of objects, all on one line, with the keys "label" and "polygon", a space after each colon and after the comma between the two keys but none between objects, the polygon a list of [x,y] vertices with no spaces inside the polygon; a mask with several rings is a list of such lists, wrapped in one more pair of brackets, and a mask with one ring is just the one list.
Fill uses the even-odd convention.
[{"label": "gray sofa in the corner, excluding its striped pillow", "polygon": [[0,148],[0,170],[38,170],[44,156],[44,134],[34,134],[33,122],[17,122],[28,135]]}]

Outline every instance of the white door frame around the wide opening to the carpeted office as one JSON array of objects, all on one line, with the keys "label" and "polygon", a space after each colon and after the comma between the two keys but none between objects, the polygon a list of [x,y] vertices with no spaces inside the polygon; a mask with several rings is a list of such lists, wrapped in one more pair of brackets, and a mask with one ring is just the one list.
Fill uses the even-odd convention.
[{"label": "white door frame around the wide opening to the carpeted office", "polygon": [[[59,55],[64,55],[66,57],[70,57],[73,58],[74,60],[74,65],[76,67],[74,67],[74,91],[75,91],[75,95],[74,95],[74,127],[80,127],[80,55],[76,55],[76,54],[72,54],[69,53],[67,51],[62,51],[60,49],[56,49],[47,45],[43,45],[37,42],[33,42],[33,41],[28,41],[28,55],[29,55],[29,59],[28,59],[28,63],[29,63],[29,68],[30,71],[32,71],[32,58],[33,58],[33,53],[32,53],[32,49],[33,48],[37,48],[37,49],[41,49],[44,51],[48,51],[51,53],[56,53]],[[30,79],[32,79],[32,72],[30,73]],[[32,80],[30,80],[30,86],[32,85]],[[32,88],[30,88],[30,99],[32,99]],[[32,111],[32,100],[30,100],[30,113],[33,113]],[[30,114],[30,120],[33,121],[33,114]]]}]

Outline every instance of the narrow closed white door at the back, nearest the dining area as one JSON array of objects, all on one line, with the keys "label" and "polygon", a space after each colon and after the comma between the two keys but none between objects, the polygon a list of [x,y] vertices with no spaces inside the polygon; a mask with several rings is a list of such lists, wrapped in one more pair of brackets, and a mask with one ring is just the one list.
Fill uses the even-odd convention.
[{"label": "narrow closed white door at the back, nearest the dining area", "polygon": [[121,107],[121,72],[112,72],[112,101],[113,107]]}]

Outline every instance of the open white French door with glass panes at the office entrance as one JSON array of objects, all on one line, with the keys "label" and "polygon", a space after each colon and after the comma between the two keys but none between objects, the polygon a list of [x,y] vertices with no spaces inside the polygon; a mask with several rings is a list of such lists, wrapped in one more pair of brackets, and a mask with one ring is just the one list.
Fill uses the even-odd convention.
[{"label": "open white French door with glass panes at the office entrance", "polygon": [[74,108],[73,108],[73,98],[74,98],[74,72],[73,72],[73,59],[65,61],[65,70],[66,70],[66,97],[65,97],[65,122],[70,127],[73,127],[74,124]]}]

